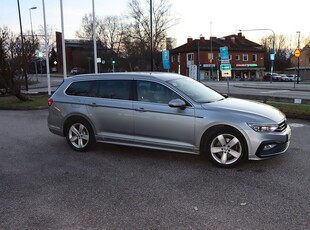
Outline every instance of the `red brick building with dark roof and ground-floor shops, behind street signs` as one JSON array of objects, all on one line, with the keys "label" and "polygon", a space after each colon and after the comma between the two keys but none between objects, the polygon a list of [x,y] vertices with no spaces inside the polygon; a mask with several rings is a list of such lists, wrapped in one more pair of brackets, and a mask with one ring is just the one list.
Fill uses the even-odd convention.
[{"label": "red brick building with dark roof and ground-floor shops, behind street signs", "polygon": [[247,40],[242,33],[222,38],[204,37],[170,50],[171,72],[189,76],[190,66],[200,66],[200,80],[221,77],[220,47],[228,47],[232,79],[261,79],[264,75],[264,54],[262,46]]}]

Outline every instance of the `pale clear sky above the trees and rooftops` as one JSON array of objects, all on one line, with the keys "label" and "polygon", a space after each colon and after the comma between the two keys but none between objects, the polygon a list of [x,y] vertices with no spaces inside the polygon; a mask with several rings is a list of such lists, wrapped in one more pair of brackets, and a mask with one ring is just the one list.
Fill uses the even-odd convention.
[{"label": "pale clear sky above the trees and rooftops", "polygon": [[[141,2],[144,0],[140,0]],[[156,0],[153,0],[155,2]],[[19,0],[23,32],[30,31],[29,8],[33,29],[37,32],[43,25],[42,0]],[[128,9],[128,0],[95,0],[98,17],[122,15]],[[168,32],[177,39],[177,45],[186,43],[188,37],[208,38],[210,34],[222,37],[237,34],[239,29],[272,29],[276,34],[289,37],[292,48],[296,46],[297,31],[310,37],[309,0],[170,0],[171,13],[180,23]],[[17,0],[0,0],[0,26],[8,26],[19,32]],[[61,31],[60,0],[45,0],[46,23]],[[63,0],[65,39],[75,38],[82,17],[92,12],[92,0]],[[258,39],[270,35],[271,31],[243,32],[246,38]]]}]

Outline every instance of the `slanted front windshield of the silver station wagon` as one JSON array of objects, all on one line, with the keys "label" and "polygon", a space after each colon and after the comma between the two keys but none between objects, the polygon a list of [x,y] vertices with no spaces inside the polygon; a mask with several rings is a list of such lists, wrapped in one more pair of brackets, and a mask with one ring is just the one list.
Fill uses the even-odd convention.
[{"label": "slanted front windshield of the silver station wagon", "polygon": [[218,92],[189,77],[170,80],[168,83],[185,93],[195,102],[209,103],[224,99]]}]

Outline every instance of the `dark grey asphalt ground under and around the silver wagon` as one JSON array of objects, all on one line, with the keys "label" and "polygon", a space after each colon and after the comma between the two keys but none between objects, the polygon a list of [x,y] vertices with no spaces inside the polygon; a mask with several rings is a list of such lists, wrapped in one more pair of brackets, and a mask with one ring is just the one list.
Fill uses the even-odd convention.
[{"label": "dark grey asphalt ground under and around the silver wagon", "polygon": [[284,155],[216,168],[98,144],[74,152],[47,110],[0,111],[0,229],[310,229],[310,122]]}]

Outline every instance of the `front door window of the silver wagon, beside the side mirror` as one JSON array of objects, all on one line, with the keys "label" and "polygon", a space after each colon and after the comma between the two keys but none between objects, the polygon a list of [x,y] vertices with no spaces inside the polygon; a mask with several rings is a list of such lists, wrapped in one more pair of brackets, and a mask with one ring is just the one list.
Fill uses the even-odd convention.
[{"label": "front door window of the silver wagon, beside the side mirror", "polygon": [[156,82],[137,81],[138,101],[168,104],[172,99],[180,98],[178,94]]}]

